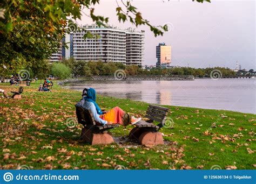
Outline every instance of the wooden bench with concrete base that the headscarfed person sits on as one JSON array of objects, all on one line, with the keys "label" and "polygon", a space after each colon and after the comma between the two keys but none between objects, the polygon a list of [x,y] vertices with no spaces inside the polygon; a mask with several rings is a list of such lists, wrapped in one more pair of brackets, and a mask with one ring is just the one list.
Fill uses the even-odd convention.
[{"label": "wooden bench with concrete base that the headscarfed person sits on", "polygon": [[97,125],[95,118],[91,112],[76,104],[76,114],[78,123],[82,124],[84,128],[80,136],[80,140],[86,141],[91,145],[96,144],[111,144],[114,142],[113,137],[106,133],[106,130],[117,128],[117,124]]}]

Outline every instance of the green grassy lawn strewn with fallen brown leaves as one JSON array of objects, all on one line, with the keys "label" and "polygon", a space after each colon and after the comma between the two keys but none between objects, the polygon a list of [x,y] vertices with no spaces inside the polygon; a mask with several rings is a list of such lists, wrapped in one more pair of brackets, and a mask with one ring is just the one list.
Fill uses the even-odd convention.
[{"label": "green grassy lawn strewn with fallen brown leaves", "polygon": [[[0,98],[0,169],[254,169],[256,115],[225,110],[170,108],[174,127],[160,130],[166,144],[134,143],[91,146],[78,141],[82,125],[68,128],[81,93],[53,86],[39,92],[39,83],[24,87],[22,100]],[[0,84],[1,89],[18,87]],[[119,106],[144,117],[149,104],[98,96],[103,109]],[[75,122],[75,121],[73,121]],[[133,126],[114,129],[126,137]],[[215,165],[215,166],[214,166]]]}]

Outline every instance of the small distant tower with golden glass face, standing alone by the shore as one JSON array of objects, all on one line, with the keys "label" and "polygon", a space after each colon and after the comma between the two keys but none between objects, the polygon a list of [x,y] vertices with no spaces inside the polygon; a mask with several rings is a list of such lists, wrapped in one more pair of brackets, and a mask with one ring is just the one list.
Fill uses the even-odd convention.
[{"label": "small distant tower with golden glass face, standing alone by the shore", "polygon": [[171,46],[160,43],[156,46],[157,66],[170,66]]}]

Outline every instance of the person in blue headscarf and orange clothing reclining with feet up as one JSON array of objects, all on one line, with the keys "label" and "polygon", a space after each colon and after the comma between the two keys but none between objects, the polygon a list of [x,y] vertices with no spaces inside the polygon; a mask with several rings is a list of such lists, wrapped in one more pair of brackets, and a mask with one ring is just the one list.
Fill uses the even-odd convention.
[{"label": "person in blue headscarf and orange clothing reclining with feet up", "polygon": [[[86,91],[86,96],[85,92]],[[110,111],[102,111],[96,103],[96,91],[93,88],[87,88],[83,91],[82,107],[90,110],[95,121],[99,124],[120,124],[127,126],[129,124],[135,124],[142,118],[131,117],[124,110],[119,107],[114,107]]]}]

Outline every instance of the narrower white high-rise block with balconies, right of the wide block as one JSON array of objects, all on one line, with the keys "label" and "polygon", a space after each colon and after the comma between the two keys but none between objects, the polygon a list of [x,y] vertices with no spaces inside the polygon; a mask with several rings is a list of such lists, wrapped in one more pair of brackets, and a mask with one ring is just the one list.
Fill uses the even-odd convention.
[{"label": "narrower white high-rise block with balconies, right of the wide block", "polygon": [[126,65],[144,67],[144,38],[145,31],[126,30]]}]

